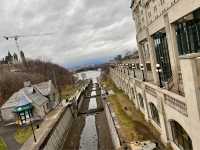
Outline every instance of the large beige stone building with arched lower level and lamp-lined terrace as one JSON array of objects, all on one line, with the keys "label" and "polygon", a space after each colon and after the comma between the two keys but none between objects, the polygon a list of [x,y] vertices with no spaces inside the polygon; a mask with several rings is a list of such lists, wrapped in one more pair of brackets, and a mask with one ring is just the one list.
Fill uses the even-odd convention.
[{"label": "large beige stone building with arched lower level and lamp-lined terrace", "polygon": [[[110,75],[174,150],[200,149],[200,0],[133,0],[139,65]],[[158,68],[157,68],[157,67]]]}]

